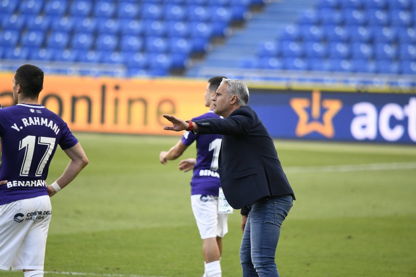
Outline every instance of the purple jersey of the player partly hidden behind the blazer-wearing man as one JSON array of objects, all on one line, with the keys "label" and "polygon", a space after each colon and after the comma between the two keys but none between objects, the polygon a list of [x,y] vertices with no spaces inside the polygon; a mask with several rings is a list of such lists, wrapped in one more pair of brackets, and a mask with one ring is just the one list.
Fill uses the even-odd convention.
[{"label": "purple jersey of the player partly hidden behind the blazer-wearing man", "polygon": [[[204,118],[220,118],[212,110],[193,120]],[[193,168],[191,180],[191,195],[206,194],[218,196],[218,188],[221,186],[218,174],[218,154],[220,153],[222,135],[194,135],[186,131],[183,134],[184,145],[191,145],[196,140],[196,164]]]}]

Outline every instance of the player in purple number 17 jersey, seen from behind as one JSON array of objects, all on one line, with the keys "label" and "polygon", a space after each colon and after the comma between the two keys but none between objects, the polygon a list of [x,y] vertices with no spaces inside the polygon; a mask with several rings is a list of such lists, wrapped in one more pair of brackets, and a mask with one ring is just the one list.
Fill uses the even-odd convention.
[{"label": "player in purple number 17 jersey, seen from behind", "polygon": [[[17,105],[0,110],[0,269],[23,270],[25,277],[43,276],[50,197],[88,164],[67,124],[39,104],[42,88],[43,71],[30,64],[20,66],[13,78]],[[58,145],[70,161],[63,174],[47,185]]]}]

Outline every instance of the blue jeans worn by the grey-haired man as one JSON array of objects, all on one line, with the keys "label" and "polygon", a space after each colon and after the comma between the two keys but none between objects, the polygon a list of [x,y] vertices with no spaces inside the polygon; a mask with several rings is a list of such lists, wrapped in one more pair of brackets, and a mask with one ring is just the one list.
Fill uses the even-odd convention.
[{"label": "blue jeans worn by the grey-haired man", "polygon": [[275,254],[280,227],[292,207],[292,196],[272,196],[248,206],[240,248],[243,277],[279,277]]}]

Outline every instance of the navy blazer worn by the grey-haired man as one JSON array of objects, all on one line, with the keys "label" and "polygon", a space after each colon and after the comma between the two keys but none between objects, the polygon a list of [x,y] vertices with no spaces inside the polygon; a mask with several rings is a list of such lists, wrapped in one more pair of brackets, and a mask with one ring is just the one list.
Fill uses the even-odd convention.
[{"label": "navy blazer worn by the grey-haired man", "polygon": [[289,194],[295,200],[273,140],[250,106],[234,110],[227,118],[195,123],[199,134],[223,135],[218,172],[225,198],[233,208],[267,196]]}]

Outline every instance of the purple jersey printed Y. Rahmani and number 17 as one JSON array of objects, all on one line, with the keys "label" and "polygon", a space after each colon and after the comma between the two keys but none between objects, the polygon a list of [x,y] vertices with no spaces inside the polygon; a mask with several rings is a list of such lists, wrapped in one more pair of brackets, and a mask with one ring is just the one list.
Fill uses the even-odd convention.
[{"label": "purple jersey printed Y. Rahmani and number 17", "polygon": [[58,115],[42,105],[18,104],[0,110],[2,145],[0,205],[48,195],[46,177],[57,146],[78,140]]}]

